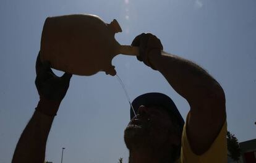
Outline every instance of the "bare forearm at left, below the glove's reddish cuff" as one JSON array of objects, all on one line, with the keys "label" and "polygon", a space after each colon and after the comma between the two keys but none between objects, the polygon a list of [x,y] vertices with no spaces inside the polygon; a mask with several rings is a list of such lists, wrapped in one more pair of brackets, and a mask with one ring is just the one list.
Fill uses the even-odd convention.
[{"label": "bare forearm at left, below the glove's reddish cuff", "polygon": [[12,163],[44,162],[46,141],[54,116],[35,111],[15,148]]}]

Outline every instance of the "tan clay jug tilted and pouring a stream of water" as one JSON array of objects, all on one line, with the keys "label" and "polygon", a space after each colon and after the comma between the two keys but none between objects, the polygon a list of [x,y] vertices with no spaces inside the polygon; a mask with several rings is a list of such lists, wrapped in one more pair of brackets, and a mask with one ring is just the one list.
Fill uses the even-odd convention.
[{"label": "tan clay jug tilted and pouring a stream of water", "polygon": [[41,35],[41,61],[75,75],[99,71],[116,75],[111,64],[117,54],[139,55],[137,47],[120,45],[114,38],[122,29],[114,19],[105,23],[96,15],[48,17]]}]

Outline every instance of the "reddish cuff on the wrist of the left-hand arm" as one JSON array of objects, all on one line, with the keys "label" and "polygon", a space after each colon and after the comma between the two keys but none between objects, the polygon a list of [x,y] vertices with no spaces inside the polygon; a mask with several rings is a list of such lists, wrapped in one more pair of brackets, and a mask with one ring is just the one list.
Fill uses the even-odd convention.
[{"label": "reddish cuff on the wrist of the left-hand arm", "polygon": [[55,116],[60,104],[61,101],[53,101],[40,96],[40,101],[35,110],[45,115]]}]

